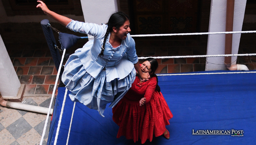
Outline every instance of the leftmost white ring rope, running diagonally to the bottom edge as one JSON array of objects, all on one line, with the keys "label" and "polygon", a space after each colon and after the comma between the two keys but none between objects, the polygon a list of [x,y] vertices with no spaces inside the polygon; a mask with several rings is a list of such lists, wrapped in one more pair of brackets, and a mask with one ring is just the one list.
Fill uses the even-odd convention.
[{"label": "leftmost white ring rope, running diagonally to the bottom edge", "polygon": [[66,52],[66,49],[64,49],[63,55],[61,57],[60,66],[59,66],[59,69],[58,69],[58,74],[57,74],[57,77],[56,77],[56,80],[55,80],[55,84],[54,84],[54,88],[53,88],[53,94],[51,95],[51,102],[50,102],[49,110],[48,110],[47,117],[46,117],[46,120],[45,120],[44,130],[43,130],[43,133],[42,133],[42,138],[41,138],[41,141],[40,141],[40,145],[42,145],[42,143],[44,141],[45,131],[46,131],[46,127],[47,127],[47,123],[48,123],[48,119],[49,119],[49,115],[50,115],[50,110],[51,110],[51,105],[53,103],[53,98],[54,98],[56,86],[57,86],[57,83],[58,83],[58,80],[59,80],[60,69],[61,69],[61,65],[63,63],[65,52]]}]

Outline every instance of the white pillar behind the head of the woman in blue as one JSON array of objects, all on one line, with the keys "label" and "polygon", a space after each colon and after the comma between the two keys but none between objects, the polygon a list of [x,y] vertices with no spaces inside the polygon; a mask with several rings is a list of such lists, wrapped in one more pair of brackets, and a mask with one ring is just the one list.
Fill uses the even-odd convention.
[{"label": "white pillar behind the head of the woman in blue", "polygon": [[81,5],[84,21],[98,25],[107,23],[110,15],[118,11],[116,0],[81,0]]}]

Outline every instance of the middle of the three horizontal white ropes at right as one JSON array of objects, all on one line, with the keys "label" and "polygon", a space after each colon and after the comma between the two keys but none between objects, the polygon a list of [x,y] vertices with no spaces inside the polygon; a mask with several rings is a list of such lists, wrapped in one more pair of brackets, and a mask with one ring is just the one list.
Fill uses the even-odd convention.
[{"label": "middle of the three horizontal white ropes at right", "polygon": [[[169,58],[191,58],[191,57],[227,57],[227,56],[253,56],[256,53],[252,54],[218,54],[218,55],[185,55],[185,56],[156,56],[151,57],[154,59],[169,59]],[[138,59],[147,59],[149,57],[138,57]]]}]

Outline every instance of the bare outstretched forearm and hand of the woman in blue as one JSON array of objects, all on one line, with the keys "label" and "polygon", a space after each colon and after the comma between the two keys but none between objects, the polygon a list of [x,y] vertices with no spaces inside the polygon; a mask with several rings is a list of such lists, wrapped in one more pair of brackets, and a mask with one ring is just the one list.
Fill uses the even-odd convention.
[{"label": "bare outstretched forearm and hand of the woman in blue", "polygon": [[51,18],[53,18],[54,20],[56,20],[57,22],[59,22],[61,25],[64,25],[65,27],[71,22],[71,19],[65,16],[62,16],[60,14],[57,14],[51,10],[48,9],[48,7],[46,6],[46,4],[42,1],[37,1],[40,4],[38,4],[36,7],[37,8],[41,8],[42,11],[47,14],[48,16],[50,16]]}]

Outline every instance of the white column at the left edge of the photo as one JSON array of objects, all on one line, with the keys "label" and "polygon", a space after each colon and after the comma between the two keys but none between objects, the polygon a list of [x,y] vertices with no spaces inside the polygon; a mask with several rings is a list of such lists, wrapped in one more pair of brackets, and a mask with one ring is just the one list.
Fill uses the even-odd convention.
[{"label": "white column at the left edge of the photo", "polygon": [[13,68],[3,39],[0,35],[0,91],[4,98],[16,99],[21,83]]}]

